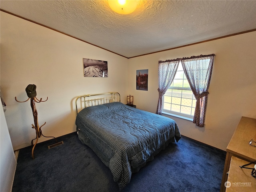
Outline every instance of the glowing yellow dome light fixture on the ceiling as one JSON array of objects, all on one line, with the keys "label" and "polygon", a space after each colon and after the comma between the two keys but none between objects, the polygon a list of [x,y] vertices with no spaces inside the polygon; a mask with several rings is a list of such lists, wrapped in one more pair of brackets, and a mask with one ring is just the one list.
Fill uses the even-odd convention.
[{"label": "glowing yellow dome light fixture on the ceiling", "polygon": [[108,0],[110,8],[119,14],[130,14],[137,7],[137,0]]}]

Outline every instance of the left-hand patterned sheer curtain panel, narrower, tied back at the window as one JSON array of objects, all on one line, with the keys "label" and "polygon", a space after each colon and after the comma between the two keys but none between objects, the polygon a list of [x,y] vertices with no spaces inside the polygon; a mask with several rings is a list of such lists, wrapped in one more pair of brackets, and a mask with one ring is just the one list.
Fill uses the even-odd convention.
[{"label": "left-hand patterned sheer curtain panel, narrower, tied back at the window", "polygon": [[174,76],[178,69],[180,58],[174,60],[166,60],[158,62],[158,104],[156,114],[162,114],[162,102],[163,96],[170,84],[172,83]]}]

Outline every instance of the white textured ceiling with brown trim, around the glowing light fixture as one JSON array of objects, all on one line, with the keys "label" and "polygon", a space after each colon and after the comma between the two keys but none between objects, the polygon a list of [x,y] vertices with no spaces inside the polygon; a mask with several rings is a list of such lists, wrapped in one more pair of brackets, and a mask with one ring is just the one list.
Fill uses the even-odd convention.
[{"label": "white textured ceiling with brown trim, around the glowing light fixture", "polygon": [[107,0],[1,0],[0,8],[127,58],[256,29],[255,0],[138,0],[128,15]]}]

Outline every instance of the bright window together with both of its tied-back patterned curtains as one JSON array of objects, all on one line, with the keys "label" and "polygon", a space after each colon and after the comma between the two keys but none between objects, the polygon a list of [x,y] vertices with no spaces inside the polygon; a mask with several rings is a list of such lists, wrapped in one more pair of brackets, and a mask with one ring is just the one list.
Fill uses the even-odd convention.
[{"label": "bright window together with both of its tied-back patterned curtains", "polygon": [[193,118],[196,126],[204,127],[214,56],[210,54],[158,61],[159,97],[156,114],[165,111]]}]

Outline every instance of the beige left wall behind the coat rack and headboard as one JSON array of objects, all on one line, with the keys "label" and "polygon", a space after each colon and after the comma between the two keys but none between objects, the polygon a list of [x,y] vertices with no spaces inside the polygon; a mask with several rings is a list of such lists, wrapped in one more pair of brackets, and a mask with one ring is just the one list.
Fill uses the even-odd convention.
[{"label": "beige left wall behind the coat rack and headboard", "polygon": [[[108,78],[84,77],[83,58],[108,61]],[[37,86],[39,125],[45,136],[76,130],[74,99],[83,94],[120,92],[125,101],[128,59],[1,12],[1,90],[14,150],[35,138],[33,114],[25,88]],[[40,138],[39,142],[48,138]]]}]

